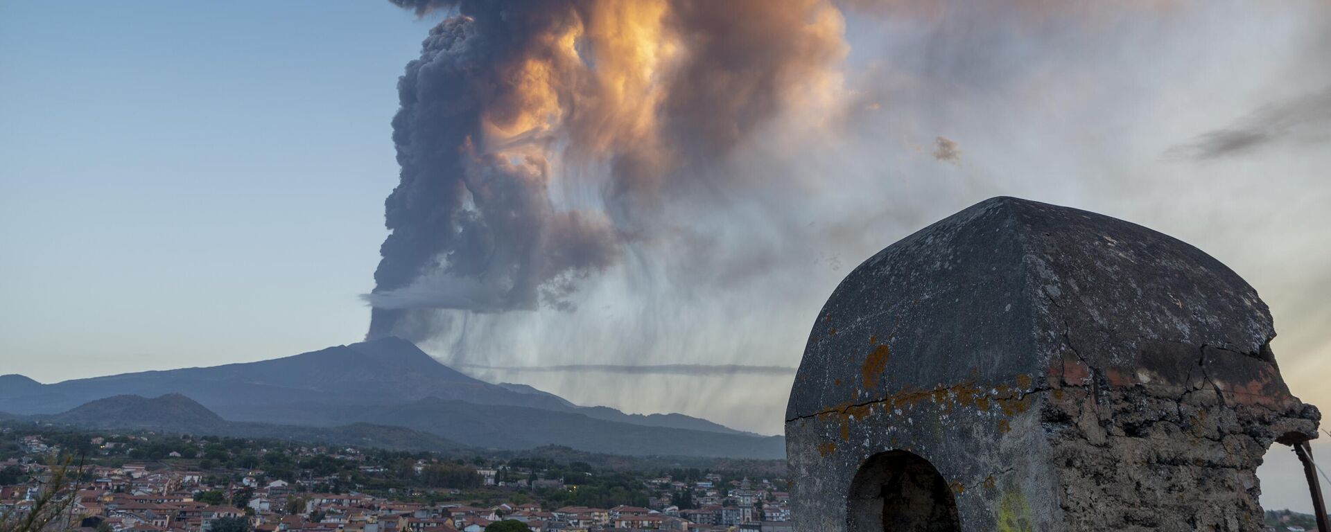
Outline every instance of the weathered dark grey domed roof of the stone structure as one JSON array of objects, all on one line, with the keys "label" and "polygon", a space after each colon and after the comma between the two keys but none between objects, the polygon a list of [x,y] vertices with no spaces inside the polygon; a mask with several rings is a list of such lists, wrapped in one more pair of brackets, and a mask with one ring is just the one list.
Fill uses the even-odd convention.
[{"label": "weathered dark grey domed roof of the stone structure", "polygon": [[847,275],[809,334],[787,419],[958,383],[1186,390],[1203,371],[1236,402],[1296,402],[1274,335],[1256,291],[1197,247],[997,197]]}]

